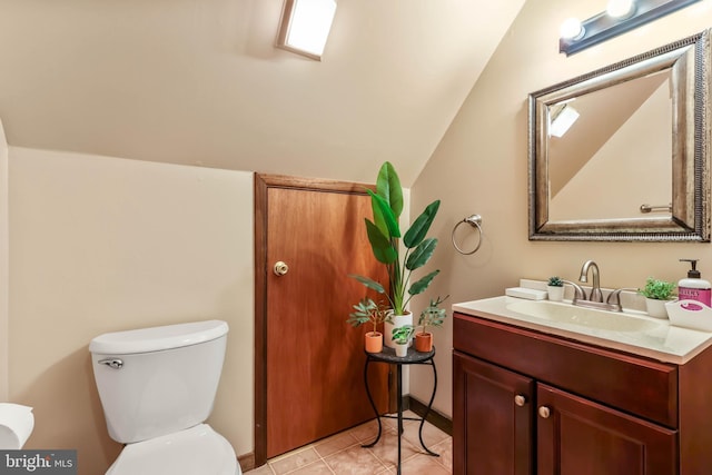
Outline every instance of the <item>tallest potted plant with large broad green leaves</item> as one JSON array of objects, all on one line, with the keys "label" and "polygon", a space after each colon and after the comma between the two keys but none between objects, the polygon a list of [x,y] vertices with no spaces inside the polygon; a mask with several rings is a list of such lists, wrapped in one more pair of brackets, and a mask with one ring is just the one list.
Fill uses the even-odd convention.
[{"label": "tallest potted plant with large broad green leaves", "polygon": [[[413,325],[413,315],[406,310],[408,301],[414,295],[424,291],[439,273],[439,270],[433,270],[411,283],[413,270],[425,266],[437,246],[437,239],[427,238],[426,235],[441,201],[435,200],[426,206],[413,225],[402,234],[398,219],[403,211],[403,188],[390,162],[386,161],[380,167],[376,179],[376,191],[367,191],[370,195],[374,219],[365,220],[366,232],[374,257],[386,266],[388,283],[384,286],[369,277],[354,274],[349,276],[387,297],[393,313],[386,320],[386,335],[390,335],[390,325],[395,327]],[[390,338],[386,338],[387,346],[392,346],[390,342]]]}]

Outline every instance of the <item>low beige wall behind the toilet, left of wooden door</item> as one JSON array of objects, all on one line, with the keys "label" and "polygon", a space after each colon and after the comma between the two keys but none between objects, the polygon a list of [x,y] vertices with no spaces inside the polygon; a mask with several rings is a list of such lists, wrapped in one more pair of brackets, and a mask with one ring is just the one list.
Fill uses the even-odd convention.
[{"label": "low beige wall behind the toilet, left of wooden door", "polygon": [[[89,340],[208,318],[230,325],[210,423],[253,451],[253,175],[10,148],[10,400],[28,448],[78,448],[103,473]],[[1,316],[1,314],[0,314]]]}]

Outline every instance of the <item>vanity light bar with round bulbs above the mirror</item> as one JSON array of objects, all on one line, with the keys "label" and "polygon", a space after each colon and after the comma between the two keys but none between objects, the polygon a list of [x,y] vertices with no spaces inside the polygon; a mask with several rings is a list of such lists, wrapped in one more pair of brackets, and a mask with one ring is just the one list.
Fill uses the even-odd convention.
[{"label": "vanity light bar with round bulbs above the mirror", "polygon": [[571,19],[566,20],[564,24],[570,24],[566,28],[562,24],[558,51],[566,56],[573,55],[698,1],[700,0],[611,0],[606,11],[583,21],[580,27]]}]

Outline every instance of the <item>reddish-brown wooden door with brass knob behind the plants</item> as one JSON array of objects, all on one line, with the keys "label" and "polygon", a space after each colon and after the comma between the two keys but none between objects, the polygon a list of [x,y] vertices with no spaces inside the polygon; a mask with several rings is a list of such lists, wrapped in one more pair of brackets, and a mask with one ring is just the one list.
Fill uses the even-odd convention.
[{"label": "reddish-brown wooden door with brass knob behind the plants", "polygon": [[[364,218],[372,211],[363,186],[257,176],[255,189],[261,240],[258,246],[256,239],[255,396],[260,465],[263,456],[375,416],[364,387],[369,328],[346,323],[366,289],[348,274],[386,275],[367,241]],[[283,276],[273,271],[278,261],[288,266]],[[263,338],[264,344],[257,342]],[[372,366],[369,387],[383,413],[388,367]]]}]

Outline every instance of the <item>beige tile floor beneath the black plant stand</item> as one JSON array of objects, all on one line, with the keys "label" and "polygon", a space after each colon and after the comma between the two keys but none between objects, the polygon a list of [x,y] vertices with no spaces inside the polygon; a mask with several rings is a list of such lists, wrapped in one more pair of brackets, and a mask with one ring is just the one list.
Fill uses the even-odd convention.
[{"label": "beige tile floor beneath the black plant stand", "polygon": [[[416,417],[411,412],[404,416]],[[382,418],[383,434],[378,444],[363,448],[378,433],[376,420],[367,422],[349,431],[336,434],[306,447],[270,458],[267,465],[246,475],[376,475],[395,474],[398,459],[396,419]],[[453,472],[452,437],[429,423],[423,427],[425,445],[439,457],[427,455],[418,439],[419,423],[404,422],[400,439],[400,473],[403,475],[441,475]]]}]

